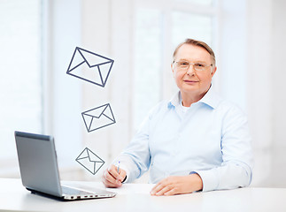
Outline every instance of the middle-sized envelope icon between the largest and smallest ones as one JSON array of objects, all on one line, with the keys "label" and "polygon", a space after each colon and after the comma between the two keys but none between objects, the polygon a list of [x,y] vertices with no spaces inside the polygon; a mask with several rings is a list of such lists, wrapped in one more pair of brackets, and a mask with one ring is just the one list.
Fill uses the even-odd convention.
[{"label": "middle-sized envelope icon between the largest and smallest ones", "polygon": [[116,123],[109,103],[82,112],[81,116],[89,133]]}]

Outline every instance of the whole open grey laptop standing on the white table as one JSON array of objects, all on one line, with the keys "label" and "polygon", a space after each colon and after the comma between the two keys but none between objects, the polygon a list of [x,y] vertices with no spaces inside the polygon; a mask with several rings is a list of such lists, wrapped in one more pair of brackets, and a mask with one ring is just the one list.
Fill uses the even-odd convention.
[{"label": "whole open grey laptop standing on the white table", "polygon": [[[32,193],[62,201],[114,197],[116,193],[97,188],[62,186],[52,136],[15,132],[22,184]],[[82,187],[82,186],[81,186]]]}]

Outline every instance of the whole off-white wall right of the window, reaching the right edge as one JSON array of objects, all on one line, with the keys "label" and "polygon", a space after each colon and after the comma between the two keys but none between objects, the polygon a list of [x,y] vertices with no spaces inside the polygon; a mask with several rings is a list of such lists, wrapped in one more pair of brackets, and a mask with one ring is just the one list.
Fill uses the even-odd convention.
[{"label": "whole off-white wall right of the window, reaching the right edge", "polygon": [[247,8],[247,105],[256,159],[252,185],[286,186],[286,2],[251,0]]}]

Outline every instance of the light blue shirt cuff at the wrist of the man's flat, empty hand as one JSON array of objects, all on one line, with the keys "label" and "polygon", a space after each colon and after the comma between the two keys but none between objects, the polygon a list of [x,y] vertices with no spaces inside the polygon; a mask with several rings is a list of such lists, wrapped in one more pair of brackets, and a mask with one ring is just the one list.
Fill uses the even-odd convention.
[{"label": "light blue shirt cuff at the wrist of the man's flat, empty hand", "polygon": [[219,180],[214,173],[215,170],[195,170],[189,174],[198,174],[203,181],[203,192],[216,190],[219,186]]}]

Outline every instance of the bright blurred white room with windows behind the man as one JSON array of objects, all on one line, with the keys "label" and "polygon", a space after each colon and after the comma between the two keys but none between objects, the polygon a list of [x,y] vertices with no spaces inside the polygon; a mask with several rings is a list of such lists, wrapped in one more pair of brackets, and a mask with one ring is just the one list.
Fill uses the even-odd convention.
[{"label": "bright blurred white room with windows behind the man", "polygon": [[[285,10],[283,0],[0,0],[0,178],[19,178],[18,130],[55,137],[62,179],[100,180],[177,91],[172,54],[194,38],[216,53],[213,87],[249,117],[251,186],[286,187]],[[105,87],[66,74],[75,47],[114,59]],[[116,124],[88,133],[81,112],[105,103]],[[75,161],[84,148],[105,162],[95,176]]]}]

